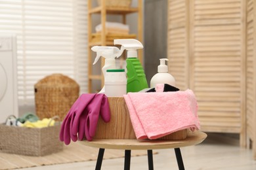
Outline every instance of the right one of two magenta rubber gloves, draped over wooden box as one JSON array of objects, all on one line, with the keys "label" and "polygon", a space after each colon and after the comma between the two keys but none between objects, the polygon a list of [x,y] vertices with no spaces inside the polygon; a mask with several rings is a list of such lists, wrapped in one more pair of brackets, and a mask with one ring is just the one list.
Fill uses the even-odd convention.
[{"label": "right one of two magenta rubber gloves, draped over wooden box", "polygon": [[85,125],[85,137],[87,141],[92,141],[96,133],[99,115],[104,122],[110,121],[110,107],[108,105],[108,97],[104,94],[97,94],[87,109],[89,114]]}]

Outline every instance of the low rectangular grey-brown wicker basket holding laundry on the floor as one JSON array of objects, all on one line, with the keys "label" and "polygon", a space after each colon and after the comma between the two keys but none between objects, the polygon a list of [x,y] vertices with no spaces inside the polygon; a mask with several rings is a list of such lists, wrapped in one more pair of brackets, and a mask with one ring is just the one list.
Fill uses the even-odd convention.
[{"label": "low rectangular grey-brown wicker basket holding laundry on the floor", "polygon": [[45,156],[63,149],[60,125],[29,128],[0,124],[0,151],[9,154]]}]

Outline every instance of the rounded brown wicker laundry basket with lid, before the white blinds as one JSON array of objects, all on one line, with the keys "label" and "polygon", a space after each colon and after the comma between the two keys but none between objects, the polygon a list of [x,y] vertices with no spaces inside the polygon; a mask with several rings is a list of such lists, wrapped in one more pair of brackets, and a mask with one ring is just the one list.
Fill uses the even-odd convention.
[{"label": "rounded brown wicker laundry basket with lid, before the white blinds", "polygon": [[79,97],[79,85],[61,74],[46,76],[35,84],[35,109],[40,119],[59,116],[64,120]]}]

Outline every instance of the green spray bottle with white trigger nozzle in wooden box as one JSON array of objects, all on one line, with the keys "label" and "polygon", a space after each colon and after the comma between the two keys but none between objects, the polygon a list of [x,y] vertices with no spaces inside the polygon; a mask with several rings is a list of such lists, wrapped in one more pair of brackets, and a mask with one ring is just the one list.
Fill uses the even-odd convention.
[{"label": "green spray bottle with white trigger nozzle in wooden box", "polygon": [[127,93],[139,92],[148,88],[146,75],[137,54],[137,50],[143,48],[142,43],[136,39],[115,39],[114,44],[121,45],[120,52],[117,56],[121,56],[123,51],[127,50]]}]

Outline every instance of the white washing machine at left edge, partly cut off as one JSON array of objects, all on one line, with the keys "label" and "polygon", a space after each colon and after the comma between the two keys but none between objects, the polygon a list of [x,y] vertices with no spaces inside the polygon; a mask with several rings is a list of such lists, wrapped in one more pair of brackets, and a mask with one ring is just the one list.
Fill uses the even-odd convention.
[{"label": "white washing machine at left edge, partly cut off", "polygon": [[0,123],[18,117],[16,36],[0,33]]}]

